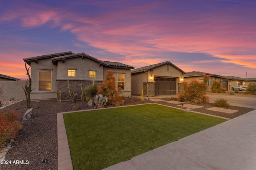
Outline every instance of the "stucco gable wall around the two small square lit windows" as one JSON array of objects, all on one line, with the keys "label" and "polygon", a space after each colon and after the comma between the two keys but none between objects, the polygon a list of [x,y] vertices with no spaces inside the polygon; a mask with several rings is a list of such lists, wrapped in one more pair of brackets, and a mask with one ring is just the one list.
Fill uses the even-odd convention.
[{"label": "stucco gable wall around the two small square lit windows", "polygon": [[[68,69],[76,70],[75,77],[68,76]],[[89,71],[96,71],[96,81],[103,80],[103,66],[99,66],[99,64],[90,59],[81,59],[80,57],[66,59],[64,63],[62,61],[58,61],[58,79],[76,79],[76,80],[92,80],[89,77]]]}]

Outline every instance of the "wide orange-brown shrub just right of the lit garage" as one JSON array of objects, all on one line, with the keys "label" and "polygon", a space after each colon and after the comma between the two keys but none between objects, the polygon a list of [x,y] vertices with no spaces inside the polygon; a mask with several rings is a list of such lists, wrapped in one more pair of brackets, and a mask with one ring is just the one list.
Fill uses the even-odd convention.
[{"label": "wide orange-brown shrub just right of the lit garage", "polygon": [[207,84],[204,82],[198,82],[197,80],[191,80],[188,82],[182,82],[183,91],[178,94],[178,100],[180,102],[206,104],[208,102],[208,96],[206,96]]}]

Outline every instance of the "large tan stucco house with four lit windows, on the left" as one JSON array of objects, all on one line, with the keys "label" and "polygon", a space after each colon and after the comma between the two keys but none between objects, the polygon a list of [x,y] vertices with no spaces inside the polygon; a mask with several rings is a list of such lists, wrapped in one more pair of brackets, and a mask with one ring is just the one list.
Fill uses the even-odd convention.
[{"label": "large tan stucco house with four lit windows, on the left", "polygon": [[116,86],[122,88],[123,96],[131,96],[130,70],[133,66],[122,63],[101,61],[85,53],[63,52],[23,59],[31,66],[31,99],[53,99],[56,92],[63,91],[62,99],[70,99],[70,88],[80,96],[82,86],[94,81],[101,84],[104,75],[112,70],[116,76]]}]

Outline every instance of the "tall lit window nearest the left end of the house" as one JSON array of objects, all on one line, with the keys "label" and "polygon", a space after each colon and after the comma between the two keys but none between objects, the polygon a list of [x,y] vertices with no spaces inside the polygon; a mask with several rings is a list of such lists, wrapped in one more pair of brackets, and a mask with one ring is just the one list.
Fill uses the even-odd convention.
[{"label": "tall lit window nearest the left end of the house", "polygon": [[39,70],[39,90],[51,90],[52,71]]}]

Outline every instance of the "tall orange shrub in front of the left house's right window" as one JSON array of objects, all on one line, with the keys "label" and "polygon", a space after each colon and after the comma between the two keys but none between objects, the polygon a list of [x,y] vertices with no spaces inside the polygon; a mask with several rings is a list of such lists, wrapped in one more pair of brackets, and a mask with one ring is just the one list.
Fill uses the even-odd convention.
[{"label": "tall orange shrub in front of the left house's right window", "polygon": [[119,94],[122,94],[122,89],[118,87],[116,89],[116,78],[111,70],[105,75],[105,80],[101,86],[98,87],[98,94],[108,97],[108,103],[113,106],[120,106],[124,104],[124,99]]}]

